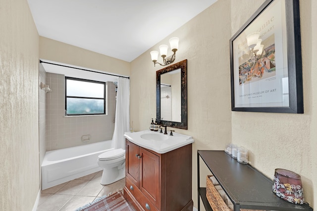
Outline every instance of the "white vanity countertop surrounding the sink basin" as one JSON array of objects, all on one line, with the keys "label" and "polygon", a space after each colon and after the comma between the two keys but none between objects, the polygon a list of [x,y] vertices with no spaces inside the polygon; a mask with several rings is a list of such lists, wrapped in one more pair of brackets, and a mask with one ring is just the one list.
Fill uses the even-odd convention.
[{"label": "white vanity countertop surrounding the sink basin", "polygon": [[[167,139],[162,141],[146,140],[141,138],[141,135],[143,134],[160,134],[162,136],[166,136]],[[179,133],[173,133],[173,136],[170,136],[169,133],[164,135],[163,133],[154,132],[151,130],[143,130],[133,133],[125,132],[124,137],[140,147],[152,150],[159,154],[164,154],[185,145],[194,143],[194,139],[191,136],[182,135]]]}]

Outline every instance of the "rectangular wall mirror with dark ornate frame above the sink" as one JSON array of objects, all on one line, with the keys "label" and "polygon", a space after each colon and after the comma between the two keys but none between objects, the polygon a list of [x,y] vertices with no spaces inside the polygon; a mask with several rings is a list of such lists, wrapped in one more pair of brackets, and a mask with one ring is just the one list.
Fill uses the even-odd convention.
[{"label": "rectangular wall mirror with dark ornate frame above the sink", "polygon": [[187,130],[187,59],[157,71],[157,122]]}]

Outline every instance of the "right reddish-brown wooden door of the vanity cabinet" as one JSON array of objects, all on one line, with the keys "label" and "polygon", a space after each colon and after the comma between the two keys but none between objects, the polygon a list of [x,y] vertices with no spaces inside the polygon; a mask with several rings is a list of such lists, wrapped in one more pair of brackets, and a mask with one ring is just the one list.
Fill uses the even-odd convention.
[{"label": "right reddish-brown wooden door of the vanity cabinet", "polygon": [[140,190],[158,208],[159,197],[159,156],[140,147]]}]

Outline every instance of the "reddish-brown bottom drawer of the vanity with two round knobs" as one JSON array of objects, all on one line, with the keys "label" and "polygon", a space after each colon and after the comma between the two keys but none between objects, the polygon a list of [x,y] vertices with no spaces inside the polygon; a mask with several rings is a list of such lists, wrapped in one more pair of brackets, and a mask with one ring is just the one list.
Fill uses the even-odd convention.
[{"label": "reddish-brown bottom drawer of the vanity with two round knobs", "polygon": [[143,193],[139,190],[139,188],[131,182],[129,178],[126,177],[126,185],[129,192],[133,195],[133,197],[138,201],[139,205],[145,211],[159,211],[150,200],[143,195]]}]

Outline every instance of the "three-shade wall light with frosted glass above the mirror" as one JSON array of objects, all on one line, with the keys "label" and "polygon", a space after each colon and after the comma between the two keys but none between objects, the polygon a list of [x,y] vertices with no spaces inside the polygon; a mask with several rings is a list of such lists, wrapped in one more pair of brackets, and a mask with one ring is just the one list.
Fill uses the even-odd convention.
[{"label": "three-shade wall light with frosted glass above the mirror", "polygon": [[165,66],[165,65],[173,63],[175,61],[175,53],[178,49],[178,41],[179,41],[179,39],[177,37],[172,37],[171,39],[169,39],[169,45],[170,45],[170,49],[173,52],[173,55],[170,56],[168,59],[165,59],[165,57],[167,55],[168,46],[167,45],[160,45],[159,46],[160,56],[162,56],[164,64],[157,62],[158,56],[159,56],[158,51],[150,52],[152,61],[154,62],[154,66],[155,66],[155,64],[160,64],[162,66]]}]

